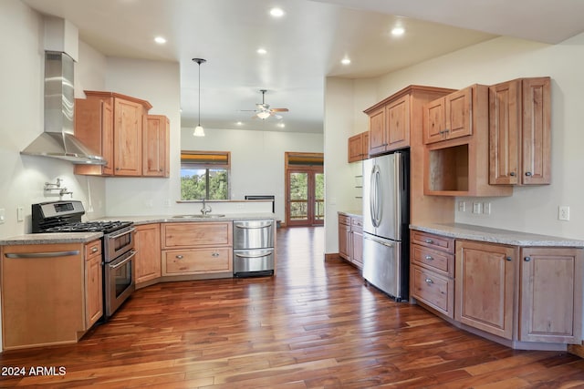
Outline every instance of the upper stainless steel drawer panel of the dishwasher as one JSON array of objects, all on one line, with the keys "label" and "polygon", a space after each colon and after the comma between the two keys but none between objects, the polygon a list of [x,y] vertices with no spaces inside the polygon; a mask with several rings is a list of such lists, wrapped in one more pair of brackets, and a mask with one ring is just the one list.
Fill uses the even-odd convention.
[{"label": "upper stainless steel drawer panel of the dishwasher", "polygon": [[274,247],[275,220],[234,221],[234,249],[264,249]]}]

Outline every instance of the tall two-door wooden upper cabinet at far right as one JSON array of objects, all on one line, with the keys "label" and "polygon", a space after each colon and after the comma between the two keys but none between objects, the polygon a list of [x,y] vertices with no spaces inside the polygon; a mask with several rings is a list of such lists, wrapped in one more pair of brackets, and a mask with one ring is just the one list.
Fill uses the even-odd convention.
[{"label": "tall two-door wooden upper cabinet at far right", "polygon": [[549,77],[519,78],[489,87],[491,184],[549,184]]}]

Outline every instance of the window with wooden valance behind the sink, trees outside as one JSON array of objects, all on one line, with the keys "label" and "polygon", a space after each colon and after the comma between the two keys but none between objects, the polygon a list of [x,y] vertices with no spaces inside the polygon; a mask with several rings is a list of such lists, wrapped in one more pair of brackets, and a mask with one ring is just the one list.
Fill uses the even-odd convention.
[{"label": "window with wooden valance behind the sink, trees outside", "polygon": [[181,200],[228,200],[228,151],[181,152]]}]

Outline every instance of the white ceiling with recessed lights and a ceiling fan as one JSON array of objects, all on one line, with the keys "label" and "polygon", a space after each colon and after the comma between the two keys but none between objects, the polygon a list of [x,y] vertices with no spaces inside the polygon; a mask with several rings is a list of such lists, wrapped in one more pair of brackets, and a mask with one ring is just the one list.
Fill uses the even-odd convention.
[{"label": "white ceiling with recessed lights and a ceiling fan", "polygon": [[[555,44],[584,31],[574,0],[23,0],[78,26],[106,56],[176,61],[182,127],[321,132],[327,76],[375,77],[498,35]],[[439,6],[438,6],[439,5]],[[285,15],[275,19],[269,8]],[[406,33],[392,37],[393,26]],[[153,43],[164,36],[164,46]],[[266,48],[265,55],[256,49]],[[349,66],[339,61],[349,56]],[[252,119],[260,89],[287,107]],[[235,123],[242,121],[243,125]],[[286,128],[277,128],[284,123]]]}]

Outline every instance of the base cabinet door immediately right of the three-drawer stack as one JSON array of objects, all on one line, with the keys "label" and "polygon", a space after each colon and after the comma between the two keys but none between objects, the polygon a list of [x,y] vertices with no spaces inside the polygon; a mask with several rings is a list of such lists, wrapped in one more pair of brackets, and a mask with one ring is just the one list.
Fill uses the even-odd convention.
[{"label": "base cabinet door immediately right of the three-drawer stack", "polygon": [[516,249],[456,241],[455,319],[506,339],[513,336]]}]

